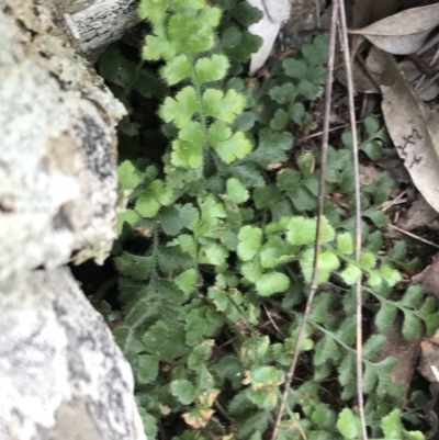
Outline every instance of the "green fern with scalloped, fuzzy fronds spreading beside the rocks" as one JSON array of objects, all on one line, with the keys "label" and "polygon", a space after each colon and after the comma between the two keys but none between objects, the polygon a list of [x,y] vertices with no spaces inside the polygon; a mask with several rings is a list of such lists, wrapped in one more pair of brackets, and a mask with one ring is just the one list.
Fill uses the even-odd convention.
[{"label": "green fern with scalloped, fuzzy fronds spreading beside the rocks", "polygon": [[[135,372],[149,439],[161,426],[173,440],[261,440],[275,419],[312,274],[318,151],[302,150],[299,136],[316,126],[309,102],[322,94],[327,37],[275,63],[268,79],[246,81],[237,75],[259,42],[245,26],[261,16],[247,2],[143,0],[138,11],[151,25],[143,58],[160,63],[159,77],[112,49],[101,72],[127,104],[127,88],[162,100],[161,132],[147,137],[160,139],[161,149],[136,158],[125,151],[131,159],[119,166],[124,208],[114,263],[122,309],[113,331]],[[373,116],[365,129],[362,149],[376,158],[385,133]],[[124,144],[140,144],[134,121],[121,132]],[[342,140],[328,156],[322,287],[301,347],[308,362],[278,440],[304,432],[318,440],[357,437],[357,418],[345,407],[354,405],[350,286],[359,279],[364,301],[379,308],[378,332],[363,349],[370,430],[382,439],[420,438],[404,430],[394,410],[404,394],[391,381],[395,360],[375,356],[397,314],[407,339],[423,324],[432,332],[439,315],[417,287],[401,298],[395,268],[414,264],[404,244],[378,252],[387,218],[374,207],[394,185],[389,174],[363,188],[365,242],[354,261],[348,131]],[[347,200],[345,212],[330,201],[336,193]],[[337,390],[336,403],[323,381]]]}]

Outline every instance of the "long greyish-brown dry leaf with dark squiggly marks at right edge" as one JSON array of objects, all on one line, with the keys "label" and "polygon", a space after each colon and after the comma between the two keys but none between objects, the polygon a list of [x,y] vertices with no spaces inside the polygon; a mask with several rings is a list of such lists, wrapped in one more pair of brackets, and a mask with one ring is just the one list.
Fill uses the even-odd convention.
[{"label": "long greyish-brown dry leaf with dark squiggly marks at right edge", "polygon": [[396,151],[415,187],[439,212],[438,114],[417,99],[391,55],[376,50],[373,68],[380,78],[385,125]]}]

